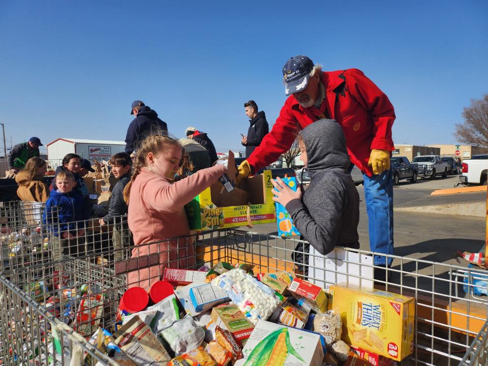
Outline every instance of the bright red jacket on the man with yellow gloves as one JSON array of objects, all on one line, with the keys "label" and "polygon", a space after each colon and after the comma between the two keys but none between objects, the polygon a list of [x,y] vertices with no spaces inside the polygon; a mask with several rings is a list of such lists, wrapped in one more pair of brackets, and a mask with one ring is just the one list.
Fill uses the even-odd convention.
[{"label": "bright red jacket on the man with yellow gloves", "polygon": [[[395,112],[388,97],[358,69],[323,72],[327,112],[342,126],[351,162],[369,176],[372,149],[394,150],[391,126]],[[275,162],[293,143],[297,130],[302,130],[316,117],[302,108],[293,95],[281,108],[275,126],[256,147],[248,162],[256,170]]]}]

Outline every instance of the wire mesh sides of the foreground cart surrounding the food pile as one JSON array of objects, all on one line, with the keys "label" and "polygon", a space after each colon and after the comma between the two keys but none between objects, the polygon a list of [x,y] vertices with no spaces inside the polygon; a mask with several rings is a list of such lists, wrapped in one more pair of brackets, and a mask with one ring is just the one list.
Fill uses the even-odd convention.
[{"label": "wire mesh sides of the foreground cart surrounding the food pile", "polygon": [[[19,299],[20,304],[13,304],[13,308],[39,309],[48,319],[65,324],[71,334],[85,339],[98,327],[112,331],[120,296],[130,286],[159,280],[165,267],[198,269],[219,261],[251,263],[255,273],[295,270],[324,288],[346,282],[414,297],[414,342],[412,353],[400,362],[402,365],[486,364],[488,302],[486,297],[473,296],[470,291],[457,291],[458,286],[466,286],[457,281],[461,270],[470,275],[466,267],[391,256],[393,266],[381,281],[373,277],[374,253],[337,248],[324,257],[312,250],[304,252],[304,247],[306,242],[292,238],[217,230],[140,246],[102,246],[77,253],[76,257],[64,255],[59,260],[15,268],[8,272],[9,279],[5,274],[0,277],[0,288],[2,292],[7,288],[8,296]],[[5,306],[12,307],[12,303]],[[26,331],[22,341],[12,337],[17,329],[12,324],[17,323],[29,323],[23,312],[2,315],[3,363],[9,364],[12,355],[19,357],[27,351],[36,357],[53,353],[47,346],[38,350],[29,346],[27,351],[21,348],[32,336]],[[52,333],[52,327],[43,321],[39,329]],[[29,331],[38,332],[36,340],[43,339],[41,330]],[[89,345],[81,344],[86,352]],[[68,359],[70,347],[65,348]],[[39,359],[46,360],[43,357]]]}]

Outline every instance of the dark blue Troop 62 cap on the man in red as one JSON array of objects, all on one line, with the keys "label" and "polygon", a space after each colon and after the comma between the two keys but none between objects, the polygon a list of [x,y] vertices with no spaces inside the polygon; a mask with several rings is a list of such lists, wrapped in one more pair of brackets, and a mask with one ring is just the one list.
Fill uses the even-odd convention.
[{"label": "dark blue Troop 62 cap on the man in red", "polygon": [[303,55],[291,57],[283,66],[283,78],[285,79],[285,95],[299,92],[307,87],[309,74],[314,68],[313,61]]}]

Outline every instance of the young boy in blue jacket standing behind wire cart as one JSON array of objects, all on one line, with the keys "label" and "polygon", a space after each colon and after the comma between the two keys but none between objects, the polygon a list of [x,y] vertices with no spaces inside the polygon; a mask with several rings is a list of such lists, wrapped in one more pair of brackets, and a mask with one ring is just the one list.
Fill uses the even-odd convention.
[{"label": "young boy in blue jacket standing behind wire cart", "polygon": [[83,197],[73,188],[76,180],[70,171],[56,174],[57,190],[51,192],[46,202],[43,223],[58,238],[52,248],[52,259],[60,260],[62,254],[80,255],[83,243],[78,239],[85,233],[84,220],[88,219]]}]

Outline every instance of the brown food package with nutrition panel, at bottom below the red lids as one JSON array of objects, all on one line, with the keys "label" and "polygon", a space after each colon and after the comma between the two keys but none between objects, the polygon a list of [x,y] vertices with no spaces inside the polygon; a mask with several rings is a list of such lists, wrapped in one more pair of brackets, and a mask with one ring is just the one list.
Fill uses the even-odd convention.
[{"label": "brown food package with nutrition panel, at bottom below the red lids", "polygon": [[121,326],[113,338],[115,344],[136,364],[166,366],[171,360],[156,335],[138,316]]}]

